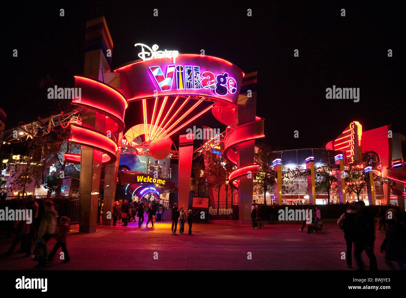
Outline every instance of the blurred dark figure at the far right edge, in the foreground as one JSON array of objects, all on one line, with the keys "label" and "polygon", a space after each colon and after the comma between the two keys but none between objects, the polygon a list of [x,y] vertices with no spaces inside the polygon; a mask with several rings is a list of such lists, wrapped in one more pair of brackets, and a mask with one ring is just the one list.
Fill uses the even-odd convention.
[{"label": "blurred dark figure at the far right edge, in the foreground", "polygon": [[385,261],[388,266],[395,270],[392,261],[397,263],[399,270],[405,270],[406,263],[406,229],[399,222],[399,212],[393,208],[388,209],[386,237],[380,247],[381,253],[386,252]]}]

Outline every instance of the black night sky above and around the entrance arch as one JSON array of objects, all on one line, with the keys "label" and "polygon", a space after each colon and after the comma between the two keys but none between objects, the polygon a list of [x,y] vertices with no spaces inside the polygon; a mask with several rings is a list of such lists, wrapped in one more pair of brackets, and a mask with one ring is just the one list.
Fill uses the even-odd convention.
[{"label": "black night sky above and around the entrance arch", "polygon": [[[49,116],[40,79],[50,75],[56,84],[73,86],[73,75],[83,74],[85,23],[104,15],[114,43],[113,69],[138,59],[135,43],[156,43],[179,53],[205,49],[245,73],[258,71],[257,115],[266,118],[266,142],[275,149],[319,148],[353,120],[364,131],[393,124],[394,133],[406,134],[404,11],[397,4],[129,3],[3,4],[0,107],[7,114],[6,129]],[[65,17],[59,16],[61,8]],[[326,88],[333,85],[360,88],[360,101],[326,99]],[[127,128],[142,122],[139,107],[127,109]],[[194,125],[225,127],[211,113]]]}]

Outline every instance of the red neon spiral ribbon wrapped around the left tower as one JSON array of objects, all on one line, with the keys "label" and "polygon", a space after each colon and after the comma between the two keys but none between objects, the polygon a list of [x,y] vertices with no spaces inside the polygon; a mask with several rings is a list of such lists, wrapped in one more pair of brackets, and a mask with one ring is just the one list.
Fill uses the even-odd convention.
[{"label": "red neon spiral ribbon wrapped around the left tower", "polygon": [[[75,76],[75,88],[80,88],[80,99],[73,99],[73,105],[80,105],[104,116],[104,131],[97,131],[82,125],[71,124],[69,141],[97,149],[102,154],[102,163],[114,163],[117,160],[117,142],[112,135],[123,131],[124,114],[128,103],[125,97],[114,88],[87,77]],[[98,119],[98,121],[100,121]],[[65,161],[80,163],[80,154],[66,153]]]}]

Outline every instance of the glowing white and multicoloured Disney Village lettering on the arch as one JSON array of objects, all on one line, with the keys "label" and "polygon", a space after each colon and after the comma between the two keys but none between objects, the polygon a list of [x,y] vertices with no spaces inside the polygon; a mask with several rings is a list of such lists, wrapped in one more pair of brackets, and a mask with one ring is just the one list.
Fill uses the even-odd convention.
[{"label": "glowing white and multicoloured Disney Village lettering on the arch", "polygon": [[[173,58],[173,63],[175,63],[175,58],[178,56],[178,51],[157,51],[158,45],[153,45],[152,49],[140,43],[135,44],[135,46],[137,45],[142,48],[138,57],[144,61],[153,58]],[[144,51],[144,47],[149,52]],[[145,54],[147,54],[147,58]],[[233,77],[229,77],[228,73],[215,75],[212,71],[203,71],[200,66],[196,65],[169,64],[166,66],[166,75],[160,66],[150,66],[149,71],[161,91],[172,89],[174,76],[175,88],[178,90],[205,88],[220,96],[225,96],[227,93],[234,94],[237,91],[237,81]]]}]

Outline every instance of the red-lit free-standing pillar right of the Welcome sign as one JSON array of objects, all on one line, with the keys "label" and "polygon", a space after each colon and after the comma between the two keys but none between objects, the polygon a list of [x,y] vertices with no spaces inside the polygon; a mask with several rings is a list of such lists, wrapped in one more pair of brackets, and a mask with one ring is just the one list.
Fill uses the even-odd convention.
[{"label": "red-lit free-standing pillar right of the Welcome sign", "polygon": [[179,135],[178,207],[188,212],[194,135]]}]

